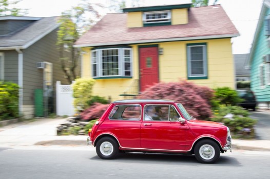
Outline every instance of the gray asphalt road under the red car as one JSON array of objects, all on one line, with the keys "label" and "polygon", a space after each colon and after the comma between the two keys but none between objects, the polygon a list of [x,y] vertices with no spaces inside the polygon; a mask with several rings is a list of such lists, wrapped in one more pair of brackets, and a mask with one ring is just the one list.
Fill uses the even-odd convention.
[{"label": "gray asphalt road under the red car", "polygon": [[101,160],[94,147],[0,148],[0,178],[269,178],[270,152],[234,151],[216,164],[194,156],[122,153]]}]

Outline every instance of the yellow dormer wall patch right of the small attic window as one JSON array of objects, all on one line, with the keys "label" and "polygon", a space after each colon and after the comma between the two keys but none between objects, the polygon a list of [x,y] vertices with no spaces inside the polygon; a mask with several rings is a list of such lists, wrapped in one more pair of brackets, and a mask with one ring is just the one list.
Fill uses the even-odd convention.
[{"label": "yellow dormer wall patch right of the small attic window", "polygon": [[187,9],[172,9],[171,10],[171,25],[188,24]]}]

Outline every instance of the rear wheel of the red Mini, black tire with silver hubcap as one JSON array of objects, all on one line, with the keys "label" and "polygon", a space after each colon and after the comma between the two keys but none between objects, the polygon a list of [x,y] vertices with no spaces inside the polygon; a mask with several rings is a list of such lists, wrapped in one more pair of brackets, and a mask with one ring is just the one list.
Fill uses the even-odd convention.
[{"label": "rear wheel of the red Mini, black tire with silver hubcap", "polygon": [[113,159],[119,152],[119,145],[112,137],[102,137],[98,141],[95,151],[102,159]]}]

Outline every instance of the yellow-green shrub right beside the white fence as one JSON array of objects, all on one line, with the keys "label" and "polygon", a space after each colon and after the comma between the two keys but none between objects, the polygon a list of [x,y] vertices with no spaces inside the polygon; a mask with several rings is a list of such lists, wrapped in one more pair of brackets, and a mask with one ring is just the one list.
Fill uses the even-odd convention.
[{"label": "yellow-green shrub right beside the white fence", "polygon": [[75,83],[72,85],[72,88],[74,107],[77,111],[82,111],[89,107],[87,102],[91,100],[94,82],[94,79],[75,79]]}]

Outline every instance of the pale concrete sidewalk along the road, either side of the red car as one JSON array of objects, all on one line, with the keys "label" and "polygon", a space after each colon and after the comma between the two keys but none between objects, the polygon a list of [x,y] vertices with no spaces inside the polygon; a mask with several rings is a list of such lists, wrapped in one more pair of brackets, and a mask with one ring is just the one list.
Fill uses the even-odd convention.
[{"label": "pale concrete sidewalk along the road, either side of the red car", "polygon": [[[86,146],[87,135],[57,136],[56,127],[66,118],[43,118],[34,122],[22,122],[0,127],[0,147],[33,145]],[[233,150],[270,151],[270,141],[233,139]]]}]

